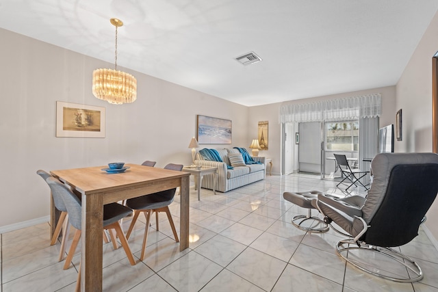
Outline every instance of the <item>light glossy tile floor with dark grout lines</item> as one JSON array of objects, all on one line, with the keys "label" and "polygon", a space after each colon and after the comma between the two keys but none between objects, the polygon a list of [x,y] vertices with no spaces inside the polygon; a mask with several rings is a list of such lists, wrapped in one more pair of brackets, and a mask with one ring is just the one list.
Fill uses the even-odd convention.
[{"label": "light glossy tile floor with dark grout lines", "polygon": [[[139,261],[144,218],[129,245],[138,263],[129,265],[122,248],[103,247],[104,291],[438,291],[438,252],[424,231],[401,247],[424,271],[413,284],[376,278],[346,265],[335,253],[338,233],[305,233],[290,223],[306,214],[283,200],[283,191],[341,194],[333,181],[296,174],[266,180],[226,194],[190,190],[190,248],[179,252],[165,215],[150,228],[146,258]],[[358,194],[363,192],[355,190]],[[170,206],[179,229],[179,196]],[[315,215],[315,214],[314,214]],[[155,216],[153,216],[155,217]],[[162,222],[163,220],[163,222]],[[127,230],[129,219],[124,220]],[[73,230],[72,230],[73,234]],[[71,242],[68,243],[68,245]],[[69,246],[67,246],[68,248]],[[79,251],[63,270],[60,243],[49,245],[49,224],[1,235],[2,291],[74,291]]]}]

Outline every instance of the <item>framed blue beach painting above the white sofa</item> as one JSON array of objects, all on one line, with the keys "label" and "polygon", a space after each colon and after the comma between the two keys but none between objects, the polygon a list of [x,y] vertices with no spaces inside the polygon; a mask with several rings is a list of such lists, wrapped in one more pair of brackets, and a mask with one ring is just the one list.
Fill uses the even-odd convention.
[{"label": "framed blue beach painting above the white sofa", "polygon": [[231,144],[231,120],[197,116],[198,144]]}]

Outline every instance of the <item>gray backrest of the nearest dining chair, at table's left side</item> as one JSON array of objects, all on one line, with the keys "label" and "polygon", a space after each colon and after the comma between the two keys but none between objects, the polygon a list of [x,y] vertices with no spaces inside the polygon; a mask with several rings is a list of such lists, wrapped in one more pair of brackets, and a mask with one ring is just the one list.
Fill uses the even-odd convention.
[{"label": "gray backrest of the nearest dining chair, at table's left side", "polygon": [[61,183],[56,178],[49,177],[46,181],[52,191],[53,198],[57,196],[64,201],[70,224],[77,230],[81,230],[81,200],[64,183]]}]

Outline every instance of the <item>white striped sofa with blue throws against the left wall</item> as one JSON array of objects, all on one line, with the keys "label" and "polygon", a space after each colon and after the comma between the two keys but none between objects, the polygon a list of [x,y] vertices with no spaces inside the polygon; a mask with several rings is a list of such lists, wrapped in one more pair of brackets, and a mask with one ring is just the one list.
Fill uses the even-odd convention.
[{"label": "white striped sofa with blue throws against the left wall", "polygon": [[[265,178],[265,157],[252,157],[253,160],[261,162],[261,164],[252,164],[246,166],[237,166],[233,170],[229,170],[227,165],[231,165],[228,159],[229,153],[240,153],[235,148],[216,149],[219,152],[220,158],[224,162],[204,160],[203,157],[197,153],[195,164],[203,166],[216,166],[218,168],[218,184],[216,191],[222,193],[242,187],[255,181],[260,181]],[[205,189],[213,189],[214,174],[207,174],[203,177],[201,187]]]}]

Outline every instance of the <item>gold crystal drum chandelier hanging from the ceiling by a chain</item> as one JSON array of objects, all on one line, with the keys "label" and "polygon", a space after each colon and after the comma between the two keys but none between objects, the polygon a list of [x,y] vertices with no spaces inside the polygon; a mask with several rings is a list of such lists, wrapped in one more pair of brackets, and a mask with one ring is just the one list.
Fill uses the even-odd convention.
[{"label": "gold crystal drum chandelier hanging from the ceiling by a chain", "polygon": [[123,21],[117,18],[111,18],[110,21],[116,27],[115,68],[93,71],[92,92],[96,98],[114,105],[133,103],[137,99],[137,79],[127,72],[117,70],[117,27],[121,27]]}]

